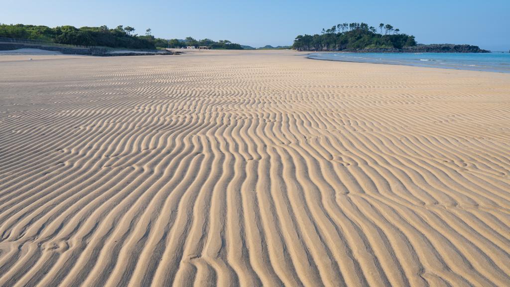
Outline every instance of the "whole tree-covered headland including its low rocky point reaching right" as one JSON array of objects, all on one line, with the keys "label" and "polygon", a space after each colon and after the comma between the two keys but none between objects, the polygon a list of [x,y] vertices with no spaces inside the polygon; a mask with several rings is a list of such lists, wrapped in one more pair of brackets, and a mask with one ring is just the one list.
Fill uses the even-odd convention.
[{"label": "whole tree-covered headland including its low rocky point reaching right", "polygon": [[346,51],[346,52],[443,52],[485,53],[478,46],[453,44],[417,44],[415,37],[400,33],[390,24],[377,27],[367,23],[342,23],[321,34],[299,35],[292,48],[299,51]]}]

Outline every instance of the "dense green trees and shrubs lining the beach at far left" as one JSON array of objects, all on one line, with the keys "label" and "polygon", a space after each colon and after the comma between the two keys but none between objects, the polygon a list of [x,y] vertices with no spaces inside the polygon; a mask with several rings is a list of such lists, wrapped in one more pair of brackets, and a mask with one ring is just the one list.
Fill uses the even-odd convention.
[{"label": "dense green trees and shrubs lining the beach at far left", "polygon": [[118,26],[109,29],[101,27],[60,26],[49,28],[33,25],[0,25],[0,37],[42,40],[61,44],[123,47],[130,49],[155,49],[155,38],[147,34],[138,36],[132,34],[135,28]]}]

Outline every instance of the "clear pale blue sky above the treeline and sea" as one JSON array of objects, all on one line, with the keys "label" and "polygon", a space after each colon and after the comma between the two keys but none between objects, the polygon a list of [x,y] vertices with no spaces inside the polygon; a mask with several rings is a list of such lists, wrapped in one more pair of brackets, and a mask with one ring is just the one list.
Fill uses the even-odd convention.
[{"label": "clear pale blue sky above the treeline and sea", "polygon": [[227,39],[251,46],[290,45],[296,35],[343,22],[390,23],[419,43],[510,49],[510,0],[243,1],[0,0],[0,22],[151,28],[161,38]]}]

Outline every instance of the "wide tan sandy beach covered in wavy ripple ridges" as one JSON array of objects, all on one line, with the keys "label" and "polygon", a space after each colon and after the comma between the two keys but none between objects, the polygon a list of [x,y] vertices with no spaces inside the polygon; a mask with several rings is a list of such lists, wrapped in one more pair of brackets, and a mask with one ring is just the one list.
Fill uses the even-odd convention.
[{"label": "wide tan sandy beach covered in wavy ripple ridges", "polygon": [[0,63],[0,285],[510,285],[510,75],[296,54]]}]

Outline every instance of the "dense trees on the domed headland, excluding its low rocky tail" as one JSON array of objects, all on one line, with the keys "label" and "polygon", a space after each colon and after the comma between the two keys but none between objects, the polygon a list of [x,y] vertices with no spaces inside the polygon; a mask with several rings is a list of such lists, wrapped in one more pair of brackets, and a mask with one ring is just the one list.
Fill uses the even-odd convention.
[{"label": "dense trees on the domed headland, excluding its low rocky tail", "polygon": [[322,34],[299,35],[294,40],[293,49],[303,51],[356,51],[362,49],[402,49],[416,45],[414,36],[400,34],[399,29],[381,23],[378,29],[366,23],[343,23],[330,29],[322,29]]}]

